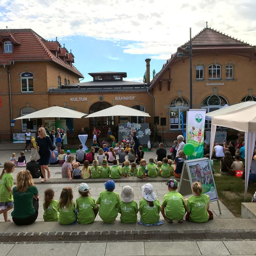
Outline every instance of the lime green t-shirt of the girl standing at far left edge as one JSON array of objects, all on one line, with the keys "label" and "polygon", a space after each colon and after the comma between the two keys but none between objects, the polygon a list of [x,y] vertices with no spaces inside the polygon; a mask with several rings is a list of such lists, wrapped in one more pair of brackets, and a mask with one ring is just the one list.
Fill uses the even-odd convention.
[{"label": "lime green t-shirt of the girl standing at far left edge", "polygon": [[0,202],[13,202],[13,196],[11,191],[8,190],[8,187],[12,187],[13,177],[11,173],[4,173],[0,180]]}]

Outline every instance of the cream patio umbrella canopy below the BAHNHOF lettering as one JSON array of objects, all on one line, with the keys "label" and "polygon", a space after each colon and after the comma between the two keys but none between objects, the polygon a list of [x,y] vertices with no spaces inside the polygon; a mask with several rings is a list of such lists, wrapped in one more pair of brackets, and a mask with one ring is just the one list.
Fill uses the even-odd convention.
[{"label": "cream patio umbrella canopy below the BAHNHOF lettering", "polygon": [[116,105],[113,107],[106,108],[105,110],[100,110],[95,113],[91,113],[85,118],[89,117],[103,117],[103,116],[144,116],[150,117],[146,112],[135,110],[134,108],[126,107],[123,105]]}]

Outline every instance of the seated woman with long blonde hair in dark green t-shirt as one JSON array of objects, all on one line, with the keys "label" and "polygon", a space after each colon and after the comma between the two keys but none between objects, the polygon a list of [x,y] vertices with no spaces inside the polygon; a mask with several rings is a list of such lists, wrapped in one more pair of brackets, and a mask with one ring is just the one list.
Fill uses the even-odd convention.
[{"label": "seated woman with long blonde hair in dark green t-shirt", "polygon": [[38,190],[28,170],[21,170],[16,177],[16,186],[12,189],[14,210],[11,213],[16,225],[30,225],[38,216]]}]

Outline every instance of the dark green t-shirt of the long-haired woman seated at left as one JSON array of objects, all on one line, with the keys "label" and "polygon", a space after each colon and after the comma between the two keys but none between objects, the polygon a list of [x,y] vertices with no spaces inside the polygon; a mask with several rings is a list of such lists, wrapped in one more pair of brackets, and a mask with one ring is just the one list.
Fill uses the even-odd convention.
[{"label": "dark green t-shirt of the long-haired woman seated at left", "polygon": [[38,195],[36,186],[30,186],[25,192],[18,192],[16,186],[12,188],[14,197],[14,210],[12,217],[16,219],[25,219],[36,213],[33,206],[33,197]]}]

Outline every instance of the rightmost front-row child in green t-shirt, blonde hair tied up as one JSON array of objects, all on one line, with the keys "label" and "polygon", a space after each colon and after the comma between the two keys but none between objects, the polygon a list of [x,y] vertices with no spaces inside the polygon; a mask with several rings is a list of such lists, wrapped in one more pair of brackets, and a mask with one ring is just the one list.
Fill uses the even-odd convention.
[{"label": "rightmost front-row child in green t-shirt, blonde hair tied up", "polygon": [[192,222],[207,222],[210,219],[213,219],[213,213],[209,211],[210,200],[209,196],[202,194],[202,184],[200,182],[194,182],[192,184],[193,196],[187,201],[187,215],[186,220],[189,219]]}]

